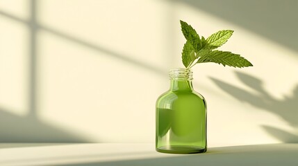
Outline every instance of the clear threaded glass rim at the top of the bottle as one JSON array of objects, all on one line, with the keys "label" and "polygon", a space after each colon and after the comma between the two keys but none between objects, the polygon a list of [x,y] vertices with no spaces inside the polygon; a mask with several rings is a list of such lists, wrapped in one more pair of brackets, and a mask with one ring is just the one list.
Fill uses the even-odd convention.
[{"label": "clear threaded glass rim at the top of the bottle", "polygon": [[192,80],[192,69],[172,68],[169,70],[170,80]]}]

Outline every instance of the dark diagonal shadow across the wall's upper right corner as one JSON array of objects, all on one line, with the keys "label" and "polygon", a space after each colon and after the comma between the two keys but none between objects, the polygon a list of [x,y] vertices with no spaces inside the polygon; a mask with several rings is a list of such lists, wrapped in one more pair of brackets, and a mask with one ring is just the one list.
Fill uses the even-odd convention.
[{"label": "dark diagonal shadow across the wall's upper right corner", "polygon": [[[298,51],[298,1],[169,0],[241,26],[281,46]],[[276,24],[278,22],[279,24]],[[276,33],[279,32],[279,33]]]}]

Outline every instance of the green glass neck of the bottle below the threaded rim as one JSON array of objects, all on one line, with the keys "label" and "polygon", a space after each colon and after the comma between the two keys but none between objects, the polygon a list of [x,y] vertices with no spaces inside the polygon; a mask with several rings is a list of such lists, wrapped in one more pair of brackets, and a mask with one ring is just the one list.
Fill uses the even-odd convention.
[{"label": "green glass neck of the bottle below the threaded rim", "polygon": [[192,91],[192,81],[191,80],[171,80],[170,91]]}]

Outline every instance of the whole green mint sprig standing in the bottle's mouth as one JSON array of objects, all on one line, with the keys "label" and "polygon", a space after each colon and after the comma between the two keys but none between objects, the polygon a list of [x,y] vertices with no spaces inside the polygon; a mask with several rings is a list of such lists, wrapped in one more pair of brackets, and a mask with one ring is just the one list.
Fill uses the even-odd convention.
[{"label": "whole green mint sprig standing in the bottle's mouth", "polygon": [[195,64],[214,62],[223,66],[248,67],[253,66],[244,57],[229,51],[214,50],[225,44],[233,35],[233,30],[220,30],[207,39],[199,37],[196,30],[185,21],[181,21],[181,30],[186,39],[182,50],[182,62],[185,68]]}]

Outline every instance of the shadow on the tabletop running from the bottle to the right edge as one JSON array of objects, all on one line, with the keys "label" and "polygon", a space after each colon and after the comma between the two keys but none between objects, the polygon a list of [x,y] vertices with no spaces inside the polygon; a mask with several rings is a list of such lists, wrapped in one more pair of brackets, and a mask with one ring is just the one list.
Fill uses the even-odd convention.
[{"label": "shadow on the tabletop running from the bottle to the right edge", "polygon": [[[139,154],[142,154],[140,152]],[[116,154],[119,155],[119,154]],[[115,155],[115,156],[116,156]],[[163,157],[162,157],[163,156]],[[205,154],[163,154],[152,158],[129,158],[117,160],[65,163],[60,166],[114,166],[114,165],[297,165],[297,148],[293,145],[245,145],[233,147],[211,147]],[[59,164],[58,164],[59,165]]]}]

